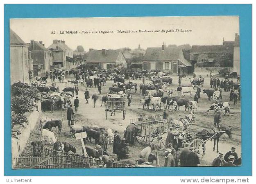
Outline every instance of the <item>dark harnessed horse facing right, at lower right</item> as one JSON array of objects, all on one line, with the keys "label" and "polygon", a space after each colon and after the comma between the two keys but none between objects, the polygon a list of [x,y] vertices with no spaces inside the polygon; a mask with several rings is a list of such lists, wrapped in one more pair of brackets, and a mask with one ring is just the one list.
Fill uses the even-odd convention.
[{"label": "dark harnessed horse facing right, at lower right", "polygon": [[[221,131],[221,132],[220,132]],[[231,139],[232,138],[232,128],[230,128],[230,126],[227,128],[227,127],[220,127],[220,130],[218,130],[217,128],[213,127],[211,128],[210,130],[206,130],[205,128],[199,132],[197,132],[197,135],[199,137],[201,137],[201,139],[203,139],[203,141],[206,141],[207,139],[211,138],[211,139],[214,139],[214,146],[213,146],[213,151],[215,151],[215,145],[216,145],[216,142],[217,142],[217,153],[219,152],[219,140],[220,140],[220,137],[226,133],[229,138]],[[217,132],[220,132],[220,133],[217,133]],[[213,135],[215,135],[213,137]],[[204,150],[204,148],[203,148]]]}]

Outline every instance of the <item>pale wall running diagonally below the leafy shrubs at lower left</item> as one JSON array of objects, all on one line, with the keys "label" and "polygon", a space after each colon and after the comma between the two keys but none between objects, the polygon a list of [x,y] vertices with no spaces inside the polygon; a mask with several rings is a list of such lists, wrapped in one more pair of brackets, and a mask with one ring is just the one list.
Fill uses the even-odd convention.
[{"label": "pale wall running diagonally below the leafy shrubs at lower left", "polygon": [[[21,134],[18,136],[18,139],[11,137],[11,155],[12,158],[14,157],[20,157],[21,153],[25,149],[25,146],[27,144],[27,141],[30,136],[30,132],[34,129],[36,126],[36,122],[39,120],[39,116],[41,114],[41,103],[38,105],[39,112],[36,111],[36,109],[31,113],[25,113],[25,116],[28,120],[28,125],[23,128],[20,126],[18,129],[20,130]],[[14,159],[12,159],[12,167],[16,163],[14,162]]]}]

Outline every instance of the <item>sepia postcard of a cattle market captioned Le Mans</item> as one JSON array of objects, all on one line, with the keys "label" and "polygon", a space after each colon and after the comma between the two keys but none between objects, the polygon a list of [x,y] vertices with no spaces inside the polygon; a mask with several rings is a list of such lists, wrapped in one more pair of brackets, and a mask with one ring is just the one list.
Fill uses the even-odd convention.
[{"label": "sepia postcard of a cattle market captioned Le Mans", "polygon": [[242,165],[239,16],[9,27],[12,169]]}]

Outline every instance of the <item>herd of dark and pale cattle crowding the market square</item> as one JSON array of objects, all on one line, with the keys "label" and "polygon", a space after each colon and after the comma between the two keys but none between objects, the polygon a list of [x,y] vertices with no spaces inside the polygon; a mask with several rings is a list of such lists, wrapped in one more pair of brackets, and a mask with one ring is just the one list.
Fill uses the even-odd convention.
[{"label": "herd of dark and pale cattle crowding the market square", "polygon": [[[67,80],[70,79],[72,75],[75,79]],[[48,79],[49,76],[50,79]],[[60,91],[59,87],[56,85],[55,79],[58,79],[57,82],[65,86],[62,91]],[[138,81],[138,84],[135,80]],[[180,82],[186,80],[190,82],[190,85],[182,85]],[[208,109],[205,109],[205,113],[208,114],[209,111],[219,109],[225,112],[224,115],[229,115],[230,101],[233,101],[234,105],[237,105],[240,99],[240,84],[238,83],[231,86],[229,99],[223,99],[223,89],[204,89],[204,78],[201,76],[199,79],[195,77],[190,79],[187,75],[180,75],[178,88],[173,88],[174,82],[172,76],[159,71],[125,72],[114,70],[107,72],[103,70],[97,72],[94,70],[82,71],[80,69],[70,71],[54,70],[53,72],[51,71],[50,74],[46,74],[46,76],[35,77],[34,81],[32,81],[32,86],[41,92],[42,111],[50,110],[53,112],[54,110],[66,110],[69,107],[72,98],[75,96],[75,86],[81,85],[89,89],[93,88],[93,86],[97,88],[99,84],[106,86],[106,81],[113,81],[108,88],[108,95],[115,93],[119,95],[126,94],[128,90],[136,93],[137,87],[139,87],[141,94],[139,95],[140,102],[143,110],[169,110],[172,114],[178,111],[180,106],[184,106],[185,112],[188,111],[196,114],[199,112],[197,110],[199,100],[207,96],[208,100],[212,100],[214,103],[210,105]],[[74,85],[74,87],[70,87],[71,84]],[[202,94],[200,94],[201,91]],[[191,100],[195,92],[197,92],[198,98]],[[107,101],[107,94],[102,96],[102,103]],[[45,144],[49,143],[53,145],[53,150],[77,153],[77,148],[75,148],[73,144],[60,141],[56,138],[53,127],[57,128],[57,135],[61,134],[62,121],[60,119],[40,120],[39,133],[43,136],[43,140],[32,141],[31,148],[43,149]],[[113,143],[114,134],[111,128],[90,125],[72,125],[70,126],[69,132],[72,141],[74,135],[80,132],[86,132],[87,134],[87,138],[84,139],[85,144],[87,142],[93,143],[94,140],[95,146],[85,146],[88,156],[93,159],[102,159],[102,155],[109,156],[106,147],[108,144]],[[33,151],[33,156],[42,156],[41,153],[42,152]]]}]

